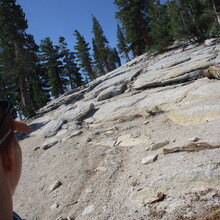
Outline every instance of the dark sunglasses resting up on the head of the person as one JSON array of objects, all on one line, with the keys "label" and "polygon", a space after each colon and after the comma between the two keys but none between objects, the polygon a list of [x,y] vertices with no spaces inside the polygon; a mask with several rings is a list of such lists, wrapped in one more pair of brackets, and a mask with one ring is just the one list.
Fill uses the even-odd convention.
[{"label": "dark sunglasses resting up on the head of the person", "polygon": [[[0,134],[4,128],[4,125],[8,118],[15,119],[17,117],[16,110],[14,109],[13,105],[8,100],[0,100],[0,108],[2,109],[2,119],[0,121]],[[7,132],[4,137],[0,140],[0,145],[6,140],[9,136],[10,132]]]}]

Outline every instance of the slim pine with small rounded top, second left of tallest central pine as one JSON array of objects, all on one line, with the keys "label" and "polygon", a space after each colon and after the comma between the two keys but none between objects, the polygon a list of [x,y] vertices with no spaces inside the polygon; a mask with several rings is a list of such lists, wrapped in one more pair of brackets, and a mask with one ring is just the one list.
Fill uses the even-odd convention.
[{"label": "slim pine with small rounded top, second left of tallest central pine", "polygon": [[63,59],[63,73],[68,78],[68,84],[71,89],[82,85],[82,77],[79,73],[79,68],[75,63],[73,52],[67,49],[67,43],[64,37],[59,38],[60,56]]}]

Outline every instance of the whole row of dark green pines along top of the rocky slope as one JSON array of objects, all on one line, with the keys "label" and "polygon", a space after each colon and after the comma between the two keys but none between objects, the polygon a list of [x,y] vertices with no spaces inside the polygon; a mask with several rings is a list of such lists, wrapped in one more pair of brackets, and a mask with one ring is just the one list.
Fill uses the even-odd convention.
[{"label": "whole row of dark green pines along top of the rocky slope", "polygon": [[[147,51],[161,51],[183,41],[219,36],[219,0],[115,0],[117,47],[111,48],[92,16],[92,48],[75,30],[74,51],[64,37],[37,45],[16,0],[0,0],[0,98],[12,100],[22,116],[32,116],[59,97],[118,68],[119,55],[129,61]],[[71,45],[72,46],[72,45]]]}]

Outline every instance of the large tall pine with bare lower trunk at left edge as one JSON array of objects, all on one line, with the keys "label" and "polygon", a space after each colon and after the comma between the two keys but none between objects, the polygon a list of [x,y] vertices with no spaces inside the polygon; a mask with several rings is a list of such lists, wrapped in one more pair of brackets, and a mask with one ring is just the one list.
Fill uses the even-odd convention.
[{"label": "large tall pine with bare lower trunk at left edge", "polygon": [[[20,95],[16,101],[17,103],[21,101],[23,114],[31,116],[34,110],[27,87],[31,73],[31,66],[27,61],[32,57],[28,47],[30,35],[26,34],[27,20],[20,5],[16,4],[16,0],[0,1],[0,27],[0,48],[5,54],[2,71],[4,69],[3,72],[7,77],[17,80],[15,84],[19,85]],[[10,71],[7,72],[6,69]],[[11,83],[14,84],[14,82]]]}]

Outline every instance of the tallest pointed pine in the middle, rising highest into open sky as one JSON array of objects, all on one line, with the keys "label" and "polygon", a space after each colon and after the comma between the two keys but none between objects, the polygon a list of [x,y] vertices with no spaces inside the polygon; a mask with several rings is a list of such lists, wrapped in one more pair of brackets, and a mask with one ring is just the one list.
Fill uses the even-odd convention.
[{"label": "tallest pointed pine in the middle, rising highest into open sky", "polygon": [[[96,69],[99,70],[101,74],[112,71],[114,68],[109,63],[109,50],[108,40],[104,36],[103,29],[98,22],[98,20],[93,16],[92,17],[92,29],[93,29],[93,53],[94,53],[94,62]],[[104,67],[104,72],[103,72]]]}]

